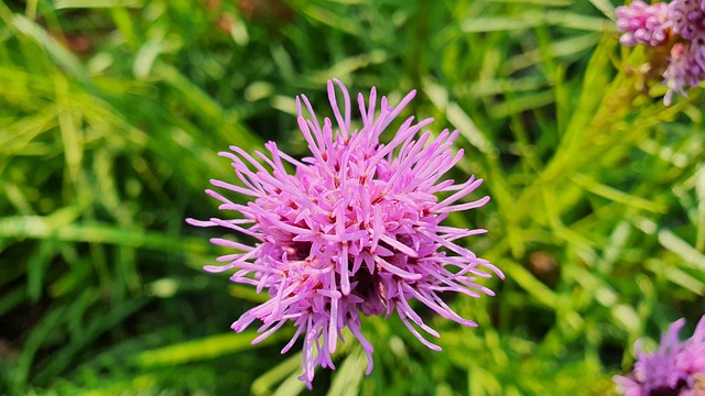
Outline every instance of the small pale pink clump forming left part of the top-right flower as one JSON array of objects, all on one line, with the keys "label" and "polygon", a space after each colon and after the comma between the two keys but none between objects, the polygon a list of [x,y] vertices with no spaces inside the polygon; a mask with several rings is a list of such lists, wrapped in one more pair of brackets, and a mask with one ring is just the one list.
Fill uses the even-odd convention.
[{"label": "small pale pink clump forming left part of the top-right flower", "polygon": [[622,45],[649,44],[659,46],[669,40],[668,7],[665,3],[649,6],[643,1],[632,1],[618,7],[617,29],[625,32],[619,38]]}]

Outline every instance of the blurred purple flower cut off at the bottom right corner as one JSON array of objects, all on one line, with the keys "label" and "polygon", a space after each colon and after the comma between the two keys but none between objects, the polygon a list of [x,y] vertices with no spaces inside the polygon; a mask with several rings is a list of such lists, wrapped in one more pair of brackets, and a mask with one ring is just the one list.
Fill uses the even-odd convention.
[{"label": "blurred purple flower cut off at the bottom right corner", "polygon": [[685,319],[671,323],[653,353],[641,350],[637,341],[637,363],[628,376],[614,377],[626,396],[690,395],[705,396],[705,316],[692,338],[681,343],[679,332]]}]

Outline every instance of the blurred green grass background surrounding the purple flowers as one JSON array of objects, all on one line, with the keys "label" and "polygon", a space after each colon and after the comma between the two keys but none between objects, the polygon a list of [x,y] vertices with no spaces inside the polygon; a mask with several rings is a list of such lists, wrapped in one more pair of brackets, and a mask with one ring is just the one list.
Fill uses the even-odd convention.
[{"label": "blurred green grass background surrounding the purple flowers", "polygon": [[[705,312],[699,90],[666,108],[608,0],[30,0],[0,3],[0,394],[296,395],[284,327],[229,324],[267,296],[205,273],[209,178],[235,144],[306,154],[294,97],[371,86],[458,129],[455,177],[492,200],[447,220],[506,275],[426,312],[444,349],[367,318],[316,395],[605,395]],[[402,114],[403,116],[403,114]],[[389,139],[390,136],[386,136]],[[478,196],[479,196],[478,194]],[[231,238],[237,238],[232,237]]]}]

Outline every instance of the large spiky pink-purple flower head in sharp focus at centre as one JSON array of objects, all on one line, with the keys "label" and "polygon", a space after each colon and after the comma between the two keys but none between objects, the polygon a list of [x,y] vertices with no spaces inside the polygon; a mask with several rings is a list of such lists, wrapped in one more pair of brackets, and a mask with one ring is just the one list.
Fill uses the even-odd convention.
[{"label": "large spiky pink-purple flower head in sharp focus at centre", "polygon": [[[209,221],[187,219],[198,227],[223,227],[252,240],[253,243],[213,239],[218,245],[239,253],[220,256],[221,266],[210,272],[237,268],[232,282],[265,290],[270,299],[245,312],[235,323],[242,331],[254,320],[262,322],[261,334],[253,343],[292,321],[297,328],[284,346],[289,351],[303,338],[303,375],[308,385],[317,365],[335,369],[332,353],[347,328],[361,343],[372,370],[372,345],[361,332],[361,315],[397,312],[401,321],[425,345],[440,348],[421,334],[433,337],[430,328],[412,309],[419,300],[437,315],[466,326],[475,322],[462,318],[442,299],[445,292],[470,297],[494,293],[478,284],[478,278],[502,273],[456,242],[486,230],[467,230],[442,226],[452,212],[484,206],[489,197],[460,204],[481,179],[470,177],[456,184],[443,176],[462,157],[453,154],[456,132],[443,131],[435,139],[431,132],[416,134],[433,120],[414,123],[410,117],[389,138],[380,135],[413,99],[406,95],[397,107],[381,98],[376,113],[377,91],[370,91],[366,105],[361,94],[358,106],[361,125],[351,121],[351,103],[343,91],[344,109],[337,105],[336,90],[328,81],[328,99],[336,125],[323,123],[305,96],[297,98],[299,128],[312,156],[296,160],[280,152],[274,142],[264,146],[269,155],[254,155],[231,146],[219,153],[232,162],[239,184],[210,183],[221,189],[249,196],[247,205],[237,204],[214,190],[220,209],[239,213],[235,218]],[[302,101],[310,114],[304,116]],[[359,128],[359,129],[358,129]],[[291,173],[293,168],[295,172]],[[436,194],[442,194],[441,199]]]}]

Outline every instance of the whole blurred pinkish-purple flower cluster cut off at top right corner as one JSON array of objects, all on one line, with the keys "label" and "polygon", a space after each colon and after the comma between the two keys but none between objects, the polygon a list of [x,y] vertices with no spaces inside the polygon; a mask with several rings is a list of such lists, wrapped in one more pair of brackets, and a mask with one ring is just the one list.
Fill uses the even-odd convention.
[{"label": "whole blurred pinkish-purple flower cluster cut off at top right corner", "polygon": [[618,7],[617,28],[623,32],[620,43],[666,46],[671,56],[663,73],[669,87],[663,101],[671,105],[673,94],[685,96],[685,88],[705,80],[705,0],[673,0],[647,4],[632,1]]}]

